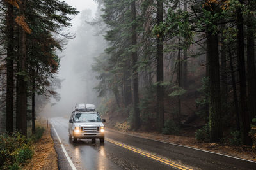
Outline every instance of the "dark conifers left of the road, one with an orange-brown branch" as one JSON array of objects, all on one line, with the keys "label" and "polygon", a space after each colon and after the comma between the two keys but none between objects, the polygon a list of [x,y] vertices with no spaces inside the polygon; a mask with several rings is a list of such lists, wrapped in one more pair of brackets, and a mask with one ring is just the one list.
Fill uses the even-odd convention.
[{"label": "dark conifers left of the road, one with an orange-brown branch", "polygon": [[[74,38],[71,15],[79,13],[65,1],[1,1],[0,108],[5,132],[35,133],[35,100],[60,97],[58,73],[64,39]],[[36,94],[41,95],[35,99]]]}]

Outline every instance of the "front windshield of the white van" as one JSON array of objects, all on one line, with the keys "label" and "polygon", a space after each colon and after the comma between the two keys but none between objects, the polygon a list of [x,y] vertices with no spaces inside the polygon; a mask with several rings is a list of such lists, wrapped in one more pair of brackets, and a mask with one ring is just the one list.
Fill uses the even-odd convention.
[{"label": "front windshield of the white van", "polygon": [[95,113],[76,113],[75,122],[102,122],[100,115]]}]

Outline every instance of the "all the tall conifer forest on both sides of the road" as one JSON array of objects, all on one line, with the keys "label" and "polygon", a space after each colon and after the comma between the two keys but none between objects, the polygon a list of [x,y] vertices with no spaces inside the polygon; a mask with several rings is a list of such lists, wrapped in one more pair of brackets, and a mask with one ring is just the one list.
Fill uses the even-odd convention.
[{"label": "all the tall conifer forest on both sides of the road", "polygon": [[[110,124],[256,143],[256,1],[95,1],[100,15],[86,23],[98,25],[108,45],[92,65],[94,90]],[[0,6],[1,127],[26,136],[28,124],[35,132],[36,94],[60,99],[58,52],[74,38],[66,28],[79,12],[58,0]]]}]

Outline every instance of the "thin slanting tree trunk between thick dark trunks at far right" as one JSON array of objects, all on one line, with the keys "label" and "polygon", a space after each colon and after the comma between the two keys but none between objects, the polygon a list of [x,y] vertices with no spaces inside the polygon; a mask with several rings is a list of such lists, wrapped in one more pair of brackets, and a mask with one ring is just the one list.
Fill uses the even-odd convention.
[{"label": "thin slanting tree trunk between thick dark trunks at far right", "polygon": [[235,112],[236,112],[236,129],[237,131],[240,131],[240,110],[238,106],[238,100],[237,100],[237,92],[236,92],[236,79],[234,75],[234,66],[233,66],[233,60],[232,60],[232,53],[231,49],[229,49],[229,62],[230,62],[230,71],[231,71],[231,80],[232,80],[232,88],[233,88],[233,97],[234,97],[234,105],[235,105]]}]

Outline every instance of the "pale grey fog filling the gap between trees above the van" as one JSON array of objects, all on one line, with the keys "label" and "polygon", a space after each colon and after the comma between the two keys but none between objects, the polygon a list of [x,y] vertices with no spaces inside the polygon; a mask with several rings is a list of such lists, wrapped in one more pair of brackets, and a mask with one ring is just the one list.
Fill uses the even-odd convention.
[{"label": "pale grey fog filling the gap between trees above the van", "polygon": [[88,24],[88,21],[99,16],[97,3],[93,0],[66,2],[80,11],[79,15],[73,17],[73,26],[69,30],[76,34],[76,38],[69,39],[65,50],[58,53],[61,61],[56,78],[64,81],[61,83],[61,88],[56,91],[61,99],[60,101],[54,98],[50,100],[44,110],[39,113],[44,117],[70,115],[76,103],[92,103],[96,106],[100,103],[97,93],[93,90],[97,80],[95,73],[91,71],[91,65],[93,57],[104,52],[106,43],[102,34],[99,34],[99,26]]}]

